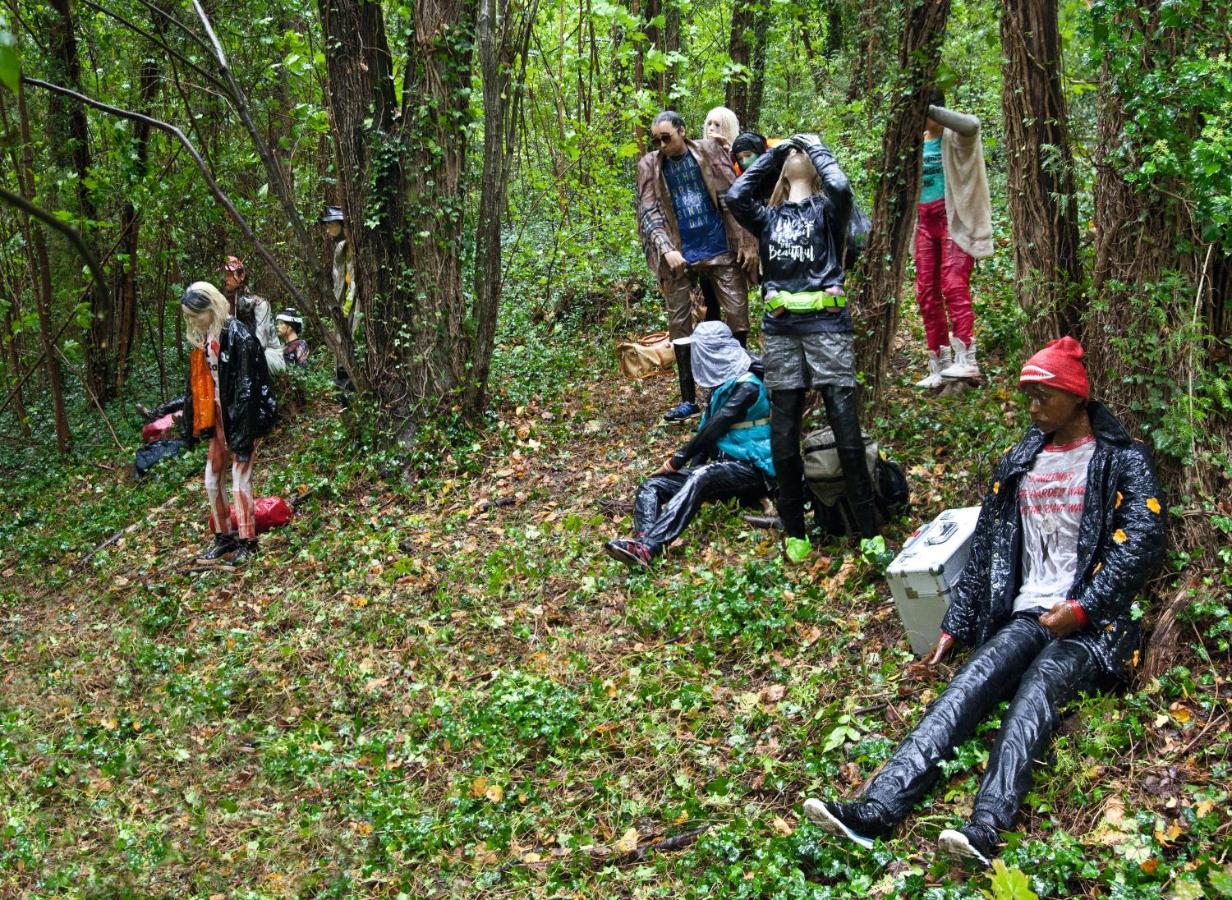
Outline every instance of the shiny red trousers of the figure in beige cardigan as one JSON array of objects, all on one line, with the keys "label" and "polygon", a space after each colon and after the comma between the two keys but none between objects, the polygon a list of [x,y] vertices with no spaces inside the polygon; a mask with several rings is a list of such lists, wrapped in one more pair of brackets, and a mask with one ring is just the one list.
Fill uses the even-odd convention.
[{"label": "shiny red trousers of the figure in beige cardigan", "polygon": [[[954,336],[971,346],[971,268],[976,259],[950,239],[945,198],[917,207],[915,302],[924,319],[924,337],[934,353]],[[949,323],[946,321],[949,313]]]}]

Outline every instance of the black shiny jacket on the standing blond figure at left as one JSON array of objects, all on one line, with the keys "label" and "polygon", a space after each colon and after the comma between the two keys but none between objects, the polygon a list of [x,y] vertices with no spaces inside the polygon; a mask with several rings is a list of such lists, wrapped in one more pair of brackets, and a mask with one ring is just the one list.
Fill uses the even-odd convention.
[{"label": "black shiny jacket on the standing blond figure at left", "polygon": [[[278,412],[261,342],[235,316],[218,335],[218,405],[227,449],[238,457],[251,456],[256,438],[270,433]],[[192,433],[191,384],[184,394],[181,421],[185,441],[192,447],[198,436]]]}]

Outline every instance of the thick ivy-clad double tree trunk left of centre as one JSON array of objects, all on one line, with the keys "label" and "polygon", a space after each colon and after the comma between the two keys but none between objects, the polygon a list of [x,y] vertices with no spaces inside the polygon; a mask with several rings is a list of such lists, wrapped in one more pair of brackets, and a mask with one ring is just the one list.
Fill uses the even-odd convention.
[{"label": "thick ivy-clad double tree trunk left of centre", "polygon": [[477,6],[415,1],[399,106],[381,5],[319,0],[339,181],[365,292],[366,380],[404,442],[473,369],[461,255]]}]

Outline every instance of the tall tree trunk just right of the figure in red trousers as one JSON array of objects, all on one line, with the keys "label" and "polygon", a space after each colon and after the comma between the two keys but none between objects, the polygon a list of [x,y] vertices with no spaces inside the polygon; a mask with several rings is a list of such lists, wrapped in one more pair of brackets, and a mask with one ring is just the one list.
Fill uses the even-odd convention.
[{"label": "tall tree trunk just right of the figure in red trousers", "polygon": [[1077,335],[1084,305],[1057,0],[1005,0],[1000,33],[1014,293],[1037,347]]}]

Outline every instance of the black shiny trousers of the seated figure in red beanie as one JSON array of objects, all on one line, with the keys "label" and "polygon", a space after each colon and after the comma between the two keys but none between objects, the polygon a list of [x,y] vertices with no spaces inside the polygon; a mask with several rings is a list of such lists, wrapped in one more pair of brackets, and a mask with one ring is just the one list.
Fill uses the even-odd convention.
[{"label": "black shiny trousers of the seated figure in red beanie", "polygon": [[[1099,662],[1077,640],[1055,640],[1039,618],[1021,613],[989,638],[929,704],[915,729],[864,789],[897,824],[941,774],[940,762],[1013,694],[988,756],[988,771],[971,821],[1008,831],[1031,789],[1031,767],[1041,761],[1061,720],[1058,709],[1099,683]],[[1016,691],[1015,691],[1016,688]]]}]

